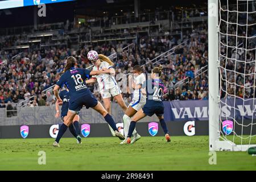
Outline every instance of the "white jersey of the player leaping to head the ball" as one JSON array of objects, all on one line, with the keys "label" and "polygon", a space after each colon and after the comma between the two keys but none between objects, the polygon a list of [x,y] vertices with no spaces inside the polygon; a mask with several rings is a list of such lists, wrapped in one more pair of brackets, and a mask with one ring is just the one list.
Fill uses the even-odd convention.
[{"label": "white jersey of the player leaping to head the ball", "polygon": [[[102,61],[100,67],[96,67],[96,66],[93,67],[93,71],[100,71],[102,68],[110,69],[113,67],[109,63]],[[110,74],[108,73],[104,73],[101,75],[94,75],[92,77],[97,79],[98,86],[100,88],[101,93],[106,92],[117,85],[117,81],[115,81],[115,78],[113,76],[110,76]]]}]

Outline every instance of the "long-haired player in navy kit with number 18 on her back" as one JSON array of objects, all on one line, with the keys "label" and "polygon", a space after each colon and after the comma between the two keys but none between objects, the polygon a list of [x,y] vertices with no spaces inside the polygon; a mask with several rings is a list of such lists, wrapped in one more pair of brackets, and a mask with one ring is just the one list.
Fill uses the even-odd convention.
[{"label": "long-haired player in navy kit with number 18 on her back", "polygon": [[75,68],[77,65],[76,59],[73,56],[68,57],[67,64],[64,68],[64,73],[61,75],[59,81],[57,81],[53,93],[57,99],[57,104],[62,105],[63,100],[59,96],[59,89],[66,85],[69,89],[70,100],[69,109],[67,113],[67,118],[64,119],[63,125],[60,126],[57,138],[53,143],[53,146],[59,147],[59,140],[67,130],[68,126],[72,124],[73,119],[76,114],[82,109],[82,106],[86,106],[86,109],[92,107],[94,110],[98,111],[104,118],[105,121],[114,130],[115,137],[119,139],[125,139],[121,133],[117,130],[115,126],[114,119],[112,116],[104,109],[100,102],[93,96],[88,87],[85,84],[85,79],[93,75],[100,75],[102,73],[107,73],[107,71],[89,71],[88,69]]}]

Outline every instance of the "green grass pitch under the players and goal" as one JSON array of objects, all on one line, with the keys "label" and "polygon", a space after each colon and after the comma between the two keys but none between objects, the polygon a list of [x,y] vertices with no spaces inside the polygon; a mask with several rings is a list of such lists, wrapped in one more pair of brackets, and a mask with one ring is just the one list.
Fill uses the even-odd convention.
[{"label": "green grass pitch under the players and goal", "polygon": [[[247,152],[217,152],[210,165],[208,136],[142,137],[121,145],[118,138],[0,139],[0,170],[255,170],[256,156]],[[256,143],[256,141],[254,141]],[[38,152],[46,152],[46,165],[38,164]]]}]

